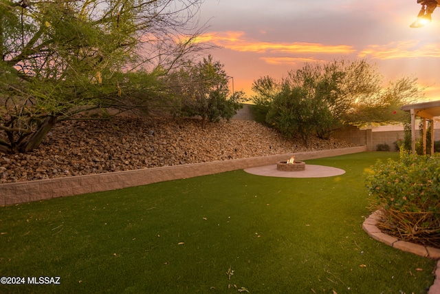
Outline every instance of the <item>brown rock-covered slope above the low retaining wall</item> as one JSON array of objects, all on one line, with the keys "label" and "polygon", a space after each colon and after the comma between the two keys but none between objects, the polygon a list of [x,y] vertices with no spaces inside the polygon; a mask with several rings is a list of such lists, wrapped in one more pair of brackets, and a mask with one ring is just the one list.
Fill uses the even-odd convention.
[{"label": "brown rock-covered slope above the low retaining wall", "polygon": [[208,123],[126,118],[59,123],[30,154],[0,152],[0,183],[353,147],[340,140],[285,139],[248,120]]}]

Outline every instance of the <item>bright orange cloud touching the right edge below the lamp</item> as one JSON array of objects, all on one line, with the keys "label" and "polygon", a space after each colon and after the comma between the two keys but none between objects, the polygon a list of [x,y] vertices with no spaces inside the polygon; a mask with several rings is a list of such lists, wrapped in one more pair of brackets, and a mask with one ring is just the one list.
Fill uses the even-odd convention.
[{"label": "bright orange cloud touching the right edge below the lamp", "polygon": [[371,56],[373,59],[414,59],[419,57],[440,57],[438,45],[418,45],[418,41],[393,42],[386,45],[370,45],[358,56]]}]

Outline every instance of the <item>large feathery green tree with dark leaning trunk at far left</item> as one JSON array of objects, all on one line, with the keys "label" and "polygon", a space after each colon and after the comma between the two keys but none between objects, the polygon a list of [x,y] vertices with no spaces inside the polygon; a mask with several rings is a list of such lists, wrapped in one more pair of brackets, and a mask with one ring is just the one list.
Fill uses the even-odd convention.
[{"label": "large feathery green tree with dark leaning trunk at far left", "polygon": [[201,2],[0,0],[0,151],[30,151],[87,110],[148,110],[197,50]]}]

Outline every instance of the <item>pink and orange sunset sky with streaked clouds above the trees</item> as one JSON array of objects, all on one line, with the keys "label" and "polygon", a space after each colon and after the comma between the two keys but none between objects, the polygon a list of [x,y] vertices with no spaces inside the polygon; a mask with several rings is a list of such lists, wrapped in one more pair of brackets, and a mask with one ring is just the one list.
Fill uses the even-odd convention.
[{"label": "pink and orange sunset sky with streaked clouds above the trees", "polygon": [[440,100],[440,8],[430,25],[410,28],[420,8],[416,0],[206,0],[200,17],[234,90],[251,95],[252,81],[304,62],[366,59],[385,85],[415,76],[426,101]]}]

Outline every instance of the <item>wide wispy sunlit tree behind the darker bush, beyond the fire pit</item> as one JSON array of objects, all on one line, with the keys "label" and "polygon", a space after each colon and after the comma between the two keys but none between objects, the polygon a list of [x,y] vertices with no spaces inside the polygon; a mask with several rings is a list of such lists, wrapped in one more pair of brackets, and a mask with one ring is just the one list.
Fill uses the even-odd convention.
[{"label": "wide wispy sunlit tree behind the darker bush, beyond the fire pit", "polygon": [[[399,110],[401,105],[422,96],[416,78],[400,78],[383,88],[382,75],[364,60],[306,63],[299,70],[289,72],[281,82],[268,83],[269,80],[265,77],[254,81],[259,94],[254,101],[259,106],[270,105],[272,117],[268,119],[272,124],[276,117],[274,112],[281,111],[276,99],[285,99],[285,93],[279,93],[286,87],[290,90],[301,88],[307,92],[304,97],[309,102],[295,107],[309,107],[306,112],[313,110],[314,120],[309,122],[311,125],[307,129],[323,139],[330,138],[332,132],[344,125],[404,121],[404,113]],[[283,90],[278,90],[276,85],[282,85]],[[278,94],[274,94],[276,91]],[[295,110],[294,113],[299,112]]]}]

